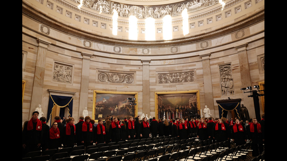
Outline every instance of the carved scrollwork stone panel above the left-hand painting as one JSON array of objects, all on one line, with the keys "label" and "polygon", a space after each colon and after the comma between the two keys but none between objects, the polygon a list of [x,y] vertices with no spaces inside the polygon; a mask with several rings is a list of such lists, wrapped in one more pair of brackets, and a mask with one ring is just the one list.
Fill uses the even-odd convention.
[{"label": "carved scrollwork stone panel above the left-hand painting", "polygon": [[134,75],[112,73],[112,72],[99,72],[98,80],[100,82],[111,82],[111,83],[134,83]]}]

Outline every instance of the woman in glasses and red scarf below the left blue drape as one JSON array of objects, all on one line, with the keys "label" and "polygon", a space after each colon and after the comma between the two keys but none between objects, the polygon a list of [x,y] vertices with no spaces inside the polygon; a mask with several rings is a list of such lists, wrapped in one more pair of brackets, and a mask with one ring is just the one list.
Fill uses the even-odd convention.
[{"label": "woman in glasses and red scarf below the left blue drape", "polygon": [[[61,124],[61,122],[59,124]],[[53,122],[52,128],[49,131],[48,138],[49,138],[48,143],[49,149],[59,149],[62,147],[61,134],[57,122]]]}]

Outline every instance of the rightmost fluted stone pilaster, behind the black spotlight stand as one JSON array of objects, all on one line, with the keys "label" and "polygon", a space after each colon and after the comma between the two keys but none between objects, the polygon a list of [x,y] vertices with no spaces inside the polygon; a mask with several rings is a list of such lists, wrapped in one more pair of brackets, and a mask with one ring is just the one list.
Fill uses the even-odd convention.
[{"label": "rightmost fluted stone pilaster, behind the black spotlight stand", "polygon": [[[250,71],[249,71],[249,64],[246,50],[247,45],[248,44],[246,43],[239,46],[235,46],[239,58],[240,76],[242,82],[241,88],[251,86],[251,78],[250,78]],[[255,117],[254,101],[252,97],[247,97],[248,95],[250,95],[250,93],[243,93],[243,101],[241,102],[241,104],[244,104],[244,106],[248,109],[250,118],[254,118]]]}]

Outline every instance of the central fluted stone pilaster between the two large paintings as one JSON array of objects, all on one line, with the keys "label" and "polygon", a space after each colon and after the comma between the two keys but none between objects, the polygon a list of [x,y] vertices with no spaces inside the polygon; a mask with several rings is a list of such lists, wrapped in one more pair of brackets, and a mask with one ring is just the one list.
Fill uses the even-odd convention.
[{"label": "central fluted stone pilaster between the two large paintings", "polygon": [[141,60],[143,63],[143,113],[150,115],[150,92],[149,92],[149,62],[151,60]]}]

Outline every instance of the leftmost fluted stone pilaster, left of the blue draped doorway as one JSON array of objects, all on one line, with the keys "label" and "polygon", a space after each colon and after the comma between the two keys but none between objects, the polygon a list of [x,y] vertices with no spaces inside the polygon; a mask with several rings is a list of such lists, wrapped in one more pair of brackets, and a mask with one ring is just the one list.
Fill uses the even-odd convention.
[{"label": "leftmost fluted stone pilaster, left of the blue draped doorway", "polygon": [[41,104],[46,54],[48,45],[51,44],[51,42],[48,42],[42,38],[38,38],[37,42],[38,42],[38,53],[37,53],[37,62],[33,79],[33,90],[32,90],[29,118],[32,117],[32,112],[35,111],[35,108],[37,108],[38,105]]}]

